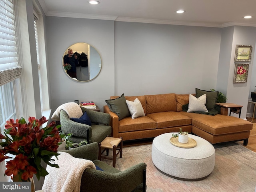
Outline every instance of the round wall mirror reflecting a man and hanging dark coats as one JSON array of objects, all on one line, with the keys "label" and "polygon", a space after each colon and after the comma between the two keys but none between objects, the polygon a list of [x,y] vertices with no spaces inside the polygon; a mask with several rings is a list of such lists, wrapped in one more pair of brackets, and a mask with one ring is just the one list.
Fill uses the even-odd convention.
[{"label": "round wall mirror reflecting a man and hanging dark coats", "polygon": [[76,81],[90,81],[98,76],[102,61],[98,51],[87,43],[76,43],[68,47],[62,57],[66,74]]}]

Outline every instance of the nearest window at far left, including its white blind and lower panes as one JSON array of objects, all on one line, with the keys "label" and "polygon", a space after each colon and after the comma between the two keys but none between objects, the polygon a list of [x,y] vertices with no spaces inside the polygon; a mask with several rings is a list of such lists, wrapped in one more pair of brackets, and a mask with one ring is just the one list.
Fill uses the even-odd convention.
[{"label": "nearest window at far left, including its white blind and lower panes", "polygon": [[[0,1],[0,128],[16,119],[14,87],[19,84],[22,67],[18,60],[18,40],[13,0]],[[19,89],[17,89],[19,90]]]}]

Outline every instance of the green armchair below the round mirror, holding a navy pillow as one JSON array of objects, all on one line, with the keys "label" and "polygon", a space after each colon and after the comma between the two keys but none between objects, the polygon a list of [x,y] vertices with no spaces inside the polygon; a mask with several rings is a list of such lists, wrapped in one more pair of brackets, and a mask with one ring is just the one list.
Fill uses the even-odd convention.
[{"label": "green armchair below the round mirror, holding a navy pillow", "polygon": [[68,114],[64,110],[61,110],[61,130],[66,134],[72,133],[70,140],[73,142],[79,143],[83,140],[86,140],[88,143],[102,142],[102,140],[112,132],[111,126],[108,126],[110,122],[110,115],[103,112],[89,110],[84,107],[80,108],[83,113],[87,113],[92,122],[92,126],[70,120]]}]

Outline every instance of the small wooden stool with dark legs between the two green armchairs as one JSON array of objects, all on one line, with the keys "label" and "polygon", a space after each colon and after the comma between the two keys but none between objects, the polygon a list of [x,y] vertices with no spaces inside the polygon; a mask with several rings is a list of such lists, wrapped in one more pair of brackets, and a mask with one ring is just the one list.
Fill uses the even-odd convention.
[{"label": "small wooden stool with dark legs between the two green armchairs", "polygon": [[[120,145],[119,145],[120,144]],[[117,146],[119,147],[117,148]],[[104,150],[101,152],[101,148],[104,148]],[[113,157],[106,157],[108,156],[109,149],[113,149]],[[116,154],[116,150],[118,150],[118,153]],[[106,156],[102,156],[102,154],[107,151]],[[98,160],[103,159],[110,159],[113,160],[113,167],[116,167],[116,157],[120,153],[120,158],[122,158],[122,152],[123,152],[123,139],[120,138],[114,138],[114,137],[106,137],[102,142],[99,143],[99,156]]]}]

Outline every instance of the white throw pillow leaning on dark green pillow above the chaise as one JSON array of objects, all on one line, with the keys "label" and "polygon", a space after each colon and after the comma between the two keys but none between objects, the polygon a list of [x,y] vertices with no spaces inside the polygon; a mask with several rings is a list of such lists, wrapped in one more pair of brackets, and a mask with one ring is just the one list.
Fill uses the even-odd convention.
[{"label": "white throw pillow leaning on dark green pillow above the chaise", "polygon": [[206,94],[196,98],[192,94],[189,94],[188,111],[187,112],[208,112],[206,106]]}]

